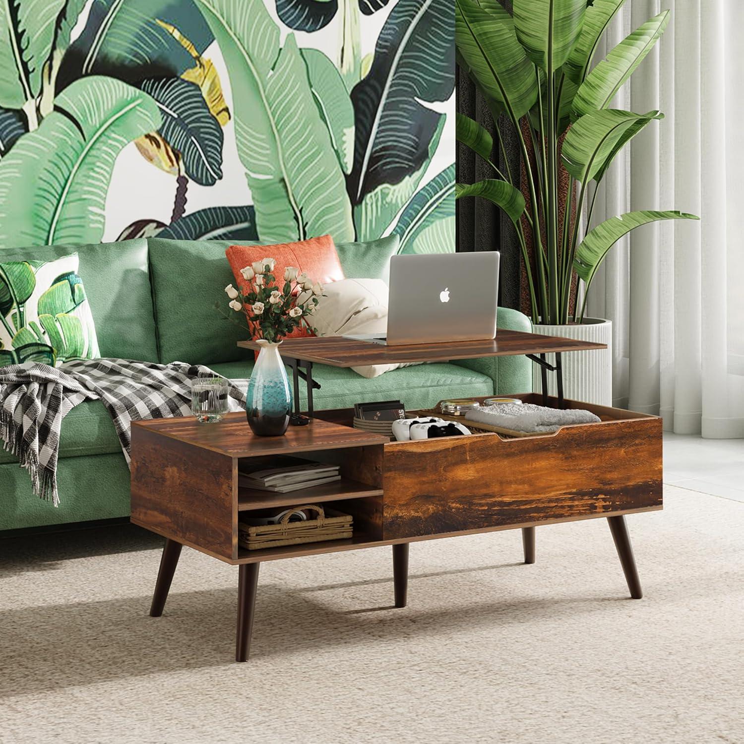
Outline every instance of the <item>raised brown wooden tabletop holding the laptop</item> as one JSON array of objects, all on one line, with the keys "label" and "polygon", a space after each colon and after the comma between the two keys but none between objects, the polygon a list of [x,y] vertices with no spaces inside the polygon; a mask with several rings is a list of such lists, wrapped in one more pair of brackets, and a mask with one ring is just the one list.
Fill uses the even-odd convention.
[{"label": "raised brown wooden tabletop holding the laptop", "polygon": [[[256,341],[239,341],[238,346],[258,349]],[[481,356],[519,356],[564,351],[606,349],[607,344],[577,341],[561,336],[541,336],[517,330],[498,330],[487,341],[452,341],[437,344],[383,346],[371,341],[344,339],[343,336],[312,336],[286,339],[279,350],[282,356],[331,367],[384,365],[396,362],[449,362],[451,359],[478,359]]]}]

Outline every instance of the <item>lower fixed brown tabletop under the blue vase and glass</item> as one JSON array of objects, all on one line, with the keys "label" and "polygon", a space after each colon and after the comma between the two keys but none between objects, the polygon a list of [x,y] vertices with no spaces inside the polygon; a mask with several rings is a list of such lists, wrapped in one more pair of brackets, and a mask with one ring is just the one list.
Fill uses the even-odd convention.
[{"label": "lower fixed brown tabletop under the blue vase and glass", "polygon": [[290,426],[282,437],[257,437],[248,426],[246,414],[227,414],[219,423],[197,423],[193,416],[132,421],[132,430],[147,432],[190,444],[231,458],[263,455],[292,455],[321,449],[343,449],[386,444],[389,437],[351,429],[321,419],[306,426]]}]

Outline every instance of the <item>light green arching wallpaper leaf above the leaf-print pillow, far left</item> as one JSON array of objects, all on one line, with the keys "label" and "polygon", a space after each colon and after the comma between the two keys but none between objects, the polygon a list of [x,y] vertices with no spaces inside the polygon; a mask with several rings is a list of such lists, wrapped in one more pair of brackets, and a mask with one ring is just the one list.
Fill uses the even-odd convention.
[{"label": "light green arching wallpaper leaf above the leaf-print pillow, far left", "polygon": [[0,247],[100,243],[118,153],[160,126],[150,96],[108,77],[78,80],[56,106],[0,160]]}]

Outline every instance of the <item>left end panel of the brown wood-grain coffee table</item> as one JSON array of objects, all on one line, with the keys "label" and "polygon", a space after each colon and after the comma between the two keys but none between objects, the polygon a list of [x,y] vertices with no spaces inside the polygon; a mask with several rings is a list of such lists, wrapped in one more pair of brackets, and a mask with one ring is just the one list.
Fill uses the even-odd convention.
[{"label": "left end panel of the brown wood-grain coffee table", "polygon": [[237,557],[237,461],[132,423],[132,522]]}]

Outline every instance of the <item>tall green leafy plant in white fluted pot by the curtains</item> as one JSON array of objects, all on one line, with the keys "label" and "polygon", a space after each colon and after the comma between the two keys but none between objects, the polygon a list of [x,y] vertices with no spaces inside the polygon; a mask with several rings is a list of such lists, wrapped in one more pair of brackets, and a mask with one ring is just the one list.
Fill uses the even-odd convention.
[{"label": "tall green leafy plant in white fluted pot by the curtains", "polygon": [[[458,184],[456,196],[489,199],[513,222],[536,333],[608,344],[606,352],[570,355],[564,367],[567,397],[603,405],[612,403],[612,326],[585,316],[586,291],[597,269],[634,228],[661,219],[698,219],[679,211],[633,211],[608,219],[579,240],[576,215],[586,203],[591,222],[596,186],[615,156],[645,126],[663,118],[658,111],[638,114],[609,104],[664,33],[670,11],[641,25],[592,66],[600,39],[624,1],[513,0],[510,15],[497,0],[455,0],[458,64],[487,99],[494,121],[503,116],[513,126],[522,160],[520,172],[503,173],[491,159],[491,135],[458,114],[458,140],[493,167],[494,177]],[[500,133],[498,140],[504,152]],[[568,190],[560,187],[563,169]],[[572,292],[574,274],[584,283],[582,302]]]}]

